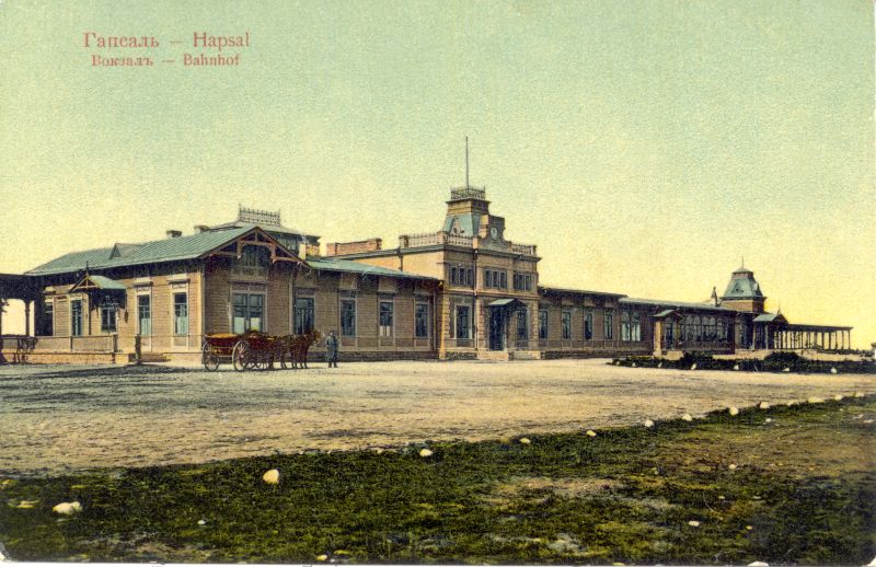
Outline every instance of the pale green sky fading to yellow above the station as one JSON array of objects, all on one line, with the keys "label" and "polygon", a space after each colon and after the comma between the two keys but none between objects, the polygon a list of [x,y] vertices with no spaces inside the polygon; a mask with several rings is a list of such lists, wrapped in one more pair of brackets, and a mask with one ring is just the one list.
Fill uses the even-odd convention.
[{"label": "pale green sky fading to yellow above the station", "polygon": [[[252,46],[103,69],[88,31]],[[876,340],[867,0],[5,0],[0,53],[0,271],[239,202],[394,245],[440,228],[468,135],[543,282],[705,300],[745,254],[792,322]]]}]

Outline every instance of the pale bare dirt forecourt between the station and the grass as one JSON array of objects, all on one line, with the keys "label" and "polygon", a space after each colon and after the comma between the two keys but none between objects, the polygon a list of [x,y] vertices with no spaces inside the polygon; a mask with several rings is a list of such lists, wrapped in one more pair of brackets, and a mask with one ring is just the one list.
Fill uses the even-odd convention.
[{"label": "pale bare dirt forecourt between the station and the grass", "polygon": [[208,373],[0,367],[0,472],[197,463],[598,429],[728,406],[876,393],[874,375],[612,367],[606,360],[370,362]]}]

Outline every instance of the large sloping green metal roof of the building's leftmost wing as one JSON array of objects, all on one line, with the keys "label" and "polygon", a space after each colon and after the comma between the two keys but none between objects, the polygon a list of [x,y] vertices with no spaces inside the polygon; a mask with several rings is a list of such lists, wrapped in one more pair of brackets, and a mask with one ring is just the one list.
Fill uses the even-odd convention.
[{"label": "large sloping green metal roof of the building's leftmost wing", "polygon": [[[26,271],[28,276],[47,276],[85,269],[110,269],[159,262],[194,259],[253,230],[252,225],[200,232],[188,236],[157,240],[142,244],[124,244],[84,252],[72,252]],[[124,251],[124,252],[123,252]]]}]

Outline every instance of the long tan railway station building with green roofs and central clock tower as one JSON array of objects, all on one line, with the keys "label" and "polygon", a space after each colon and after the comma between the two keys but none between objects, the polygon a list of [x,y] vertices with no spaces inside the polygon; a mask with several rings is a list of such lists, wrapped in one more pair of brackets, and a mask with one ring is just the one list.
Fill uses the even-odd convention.
[{"label": "long tan railway station building with green roofs and central clock tower", "polygon": [[[335,242],[241,207],[233,221],[146,243],[72,252],[0,275],[23,336],[0,360],[197,362],[204,337],[335,331],[346,360],[670,356],[850,348],[851,327],[792,324],[764,309],[750,269],[708,302],[635,299],[543,284],[538,248],[506,239],[483,187],[450,192],[440,229]],[[0,325],[2,324],[0,313]],[[324,356],[318,344],[312,356]]]}]

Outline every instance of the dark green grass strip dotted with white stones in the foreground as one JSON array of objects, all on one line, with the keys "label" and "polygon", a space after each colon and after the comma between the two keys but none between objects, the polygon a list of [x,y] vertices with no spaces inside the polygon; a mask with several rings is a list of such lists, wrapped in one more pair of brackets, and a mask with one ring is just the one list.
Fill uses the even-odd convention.
[{"label": "dark green grass strip dotted with white stones in the foreground", "polygon": [[[862,565],[874,415],[853,398],[428,443],[427,459],[412,445],[8,479],[0,542],[18,560]],[[278,486],[261,479],[273,467]],[[73,499],[80,513],[51,512]]]}]

